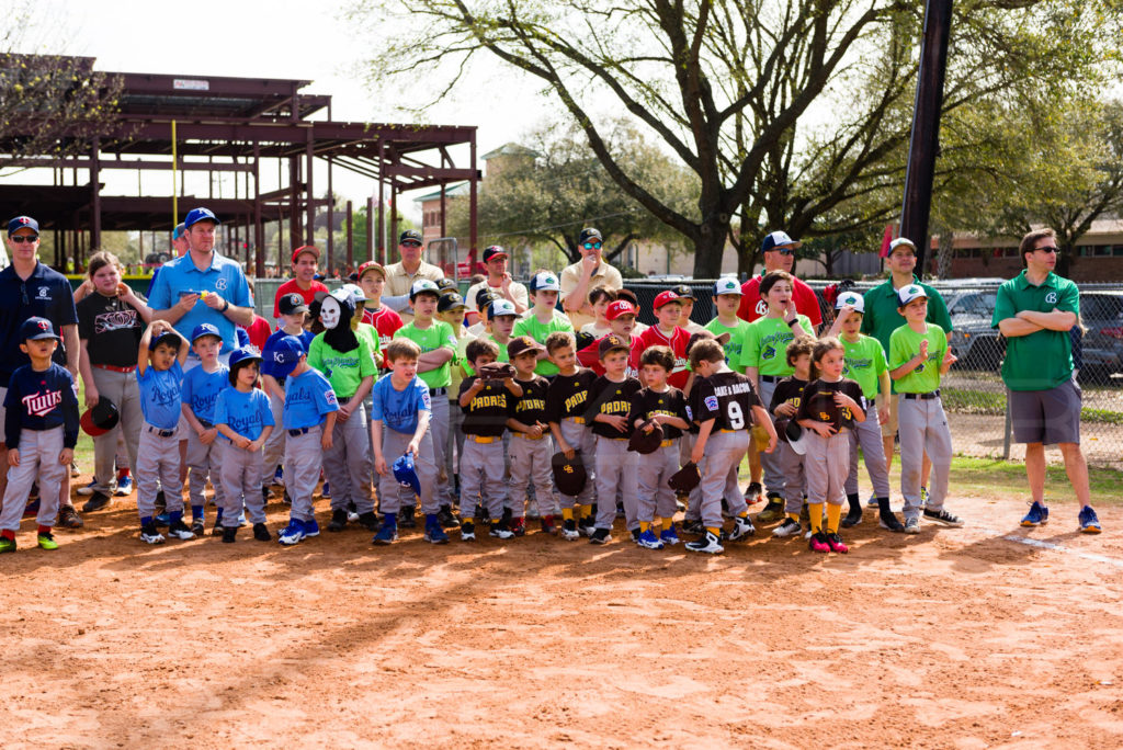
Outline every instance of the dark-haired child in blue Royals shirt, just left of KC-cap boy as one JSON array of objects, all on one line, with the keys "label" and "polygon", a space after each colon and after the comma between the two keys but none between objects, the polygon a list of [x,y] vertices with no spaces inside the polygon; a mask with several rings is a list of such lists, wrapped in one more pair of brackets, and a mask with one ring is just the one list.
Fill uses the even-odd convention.
[{"label": "dark-haired child in blue Royals shirt, just left of KC-cap boy", "polygon": [[270,397],[257,387],[262,356],[253,347],[230,353],[230,385],[218,394],[214,426],[221,433],[222,487],[226,505],[220,507],[222,541],[232,542],[238,532],[238,515],[249,509],[254,539],[268,541],[265,527],[265,499],[262,496],[262,447],[274,430]]}]

